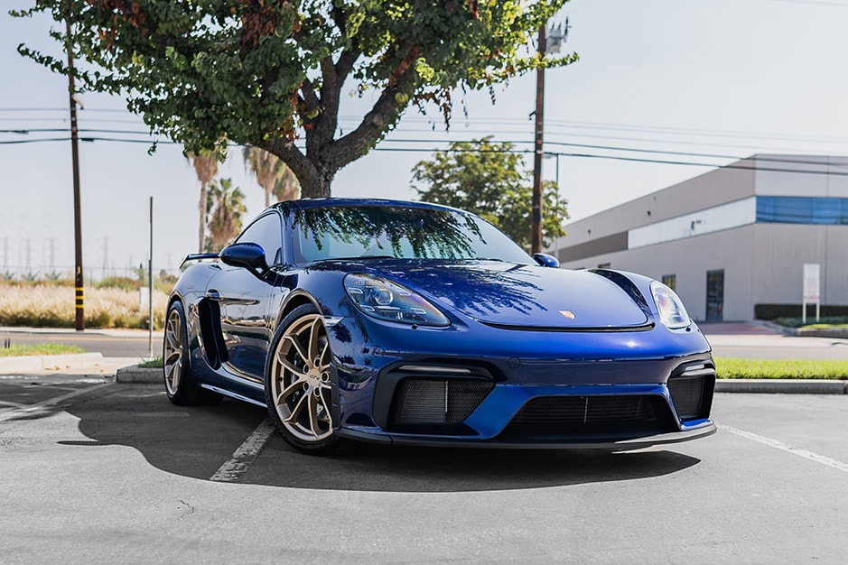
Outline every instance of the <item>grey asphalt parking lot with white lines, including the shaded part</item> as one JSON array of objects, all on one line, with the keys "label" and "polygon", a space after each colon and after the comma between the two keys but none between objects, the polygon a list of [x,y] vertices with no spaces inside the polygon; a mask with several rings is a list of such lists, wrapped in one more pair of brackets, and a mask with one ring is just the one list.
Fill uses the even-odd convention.
[{"label": "grey asphalt parking lot with white lines, including the shaded part", "polygon": [[304,456],[265,413],[154,384],[0,378],[0,555],[63,562],[843,562],[848,398],[718,394],[629,453]]}]

